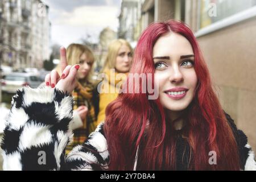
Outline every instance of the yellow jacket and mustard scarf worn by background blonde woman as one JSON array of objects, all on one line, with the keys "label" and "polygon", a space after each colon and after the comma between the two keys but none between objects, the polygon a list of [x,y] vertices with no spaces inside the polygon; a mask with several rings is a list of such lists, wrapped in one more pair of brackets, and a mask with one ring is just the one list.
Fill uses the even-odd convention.
[{"label": "yellow jacket and mustard scarf worn by background blonde woman", "polygon": [[97,124],[105,120],[106,107],[109,105],[110,102],[114,101],[115,98],[117,98],[122,82],[125,81],[127,77],[127,73],[119,73],[117,76],[117,73],[114,72],[114,69],[107,69],[106,71],[104,71],[104,73],[106,75],[101,85]]}]

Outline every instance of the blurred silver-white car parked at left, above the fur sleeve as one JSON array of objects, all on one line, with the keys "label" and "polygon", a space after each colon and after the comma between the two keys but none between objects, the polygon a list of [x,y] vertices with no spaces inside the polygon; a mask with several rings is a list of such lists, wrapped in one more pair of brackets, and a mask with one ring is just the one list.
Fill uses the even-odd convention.
[{"label": "blurred silver-white car parked at left, above the fur sleeve", "polygon": [[42,81],[32,73],[10,73],[1,80],[2,92],[16,93],[23,86],[37,88]]}]

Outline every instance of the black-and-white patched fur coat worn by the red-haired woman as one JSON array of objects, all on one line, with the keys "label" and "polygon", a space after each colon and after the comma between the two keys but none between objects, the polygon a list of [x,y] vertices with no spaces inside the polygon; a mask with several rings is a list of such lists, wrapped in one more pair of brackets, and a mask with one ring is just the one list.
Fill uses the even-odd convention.
[{"label": "black-and-white patched fur coat worn by the red-haired woman", "polygon": [[[24,88],[13,97],[1,144],[4,170],[94,170],[108,169],[109,152],[103,123],[86,142],[65,156],[72,140],[73,99],[56,89]],[[229,116],[228,116],[229,117]],[[230,118],[231,119],[231,118]],[[229,120],[229,119],[228,119]],[[232,120],[232,119],[231,119]],[[233,123],[233,120],[232,120]],[[236,129],[234,123],[233,130]],[[256,170],[253,151],[247,137],[236,131],[242,170]],[[40,162],[45,155],[45,161]],[[101,164],[101,168],[99,165]]]}]

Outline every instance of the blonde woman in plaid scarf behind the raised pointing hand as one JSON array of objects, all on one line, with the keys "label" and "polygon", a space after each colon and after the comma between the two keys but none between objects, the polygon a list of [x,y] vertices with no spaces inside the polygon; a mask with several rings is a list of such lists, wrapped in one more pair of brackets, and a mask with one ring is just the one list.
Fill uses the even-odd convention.
[{"label": "blonde woman in plaid scarf behind the raised pointing hand", "polygon": [[[72,92],[74,100],[73,122],[70,127],[73,130],[73,143],[67,146],[67,153],[77,144],[85,141],[88,135],[96,129],[96,117],[92,104],[93,90],[93,63],[92,51],[81,44],[71,44],[67,48],[67,61],[69,67],[80,65],[76,76],[76,88]],[[60,73],[60,65],[56,68]],[[65,74],[61,75],[62,78]],[[54,87],[54,85],[51,85]]]}]

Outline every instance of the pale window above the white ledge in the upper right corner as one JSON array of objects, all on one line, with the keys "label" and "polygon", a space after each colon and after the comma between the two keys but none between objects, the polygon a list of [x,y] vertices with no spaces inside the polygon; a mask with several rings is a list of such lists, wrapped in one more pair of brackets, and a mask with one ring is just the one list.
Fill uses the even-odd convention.
[{"label": "pale window above the white ledge in the upper right corner", "polygon": [[200,28],[254,6],[256,0],[200,0]]}]

